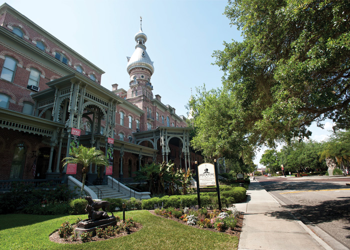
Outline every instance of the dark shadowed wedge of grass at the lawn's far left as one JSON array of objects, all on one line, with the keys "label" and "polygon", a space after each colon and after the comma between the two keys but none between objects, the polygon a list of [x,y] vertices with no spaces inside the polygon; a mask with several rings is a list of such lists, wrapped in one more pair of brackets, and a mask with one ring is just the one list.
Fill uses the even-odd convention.
[{"label": "dark shadowed wedge of grass at the lawn's far left", "polygon": [[35,223],[39,223],[45,220],[64,217],[67,215],[36,215],[36,214],[22,214],[22,213],[9,213],[1,214],[0,217],[0,230],[8,229],[18,226],[26,226]]}]

